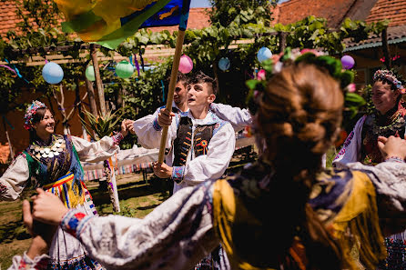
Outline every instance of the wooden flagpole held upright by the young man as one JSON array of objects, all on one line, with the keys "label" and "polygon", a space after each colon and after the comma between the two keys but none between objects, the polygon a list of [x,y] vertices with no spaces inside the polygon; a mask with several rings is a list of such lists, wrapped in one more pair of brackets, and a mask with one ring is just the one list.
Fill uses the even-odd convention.
[{"label": "wooden flagpole held upright by the young man", "polygon": [[[185,31],[179,30],[177,37],[177,46],[175,47],[175,55],[173,57],[172,71],[170,73],[169,89],[167,90],[167,111],[172,112],[173,94],[175,92],[175,86],[177,85],[178,69],[180,62],[180,54],[182,53],[183,40],[185,39]],[[159,146],[159,155],[157,162],[162,164],[165,156],[165,146],[167,145],[167,129],[168,126],[164,126],[162,129],[161,144]]]}]

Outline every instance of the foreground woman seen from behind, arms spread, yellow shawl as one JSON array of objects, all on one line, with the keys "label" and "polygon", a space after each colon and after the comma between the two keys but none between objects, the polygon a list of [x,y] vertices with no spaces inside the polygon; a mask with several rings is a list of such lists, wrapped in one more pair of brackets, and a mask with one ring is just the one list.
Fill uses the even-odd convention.
[{"label": "foreground woman seen from behind, arms spread, yellow shawl", "polygon": [[88,216],[39,189],[33,217],[61,225],[111,269],[188,270],[219,243],[231,269],[373,269],[386,256],[383,232],[393,233],[379,217],[406,214],[406,194],[392,193],[406,190],[406,141],[380,137],[387,158],[376,166],[322,168],[340,133],[343,74],[326,55],[279,65],[257,95],[259,161],[185,187],[143,219]]}]

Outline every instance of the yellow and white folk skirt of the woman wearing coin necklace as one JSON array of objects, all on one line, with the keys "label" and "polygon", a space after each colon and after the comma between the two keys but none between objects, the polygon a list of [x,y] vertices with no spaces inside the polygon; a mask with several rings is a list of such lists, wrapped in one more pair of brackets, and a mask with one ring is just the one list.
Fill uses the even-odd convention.
[{"label": "yellow and white folk skirt of the woman wearing coin necklace", "polygon": [[[92,196],[86,185],[82,181],[73,185],[74,177],[74,174],[68,173],[56,182],[44,185],[43,188],[46,192],[57,195],[66,207],[80,209],[86,215],[97,215]],[[69,235],[60,227],[52,240],[49,256],[51,259],[47,269],[104,269],[102,265],[87,256],[85,248],[74,236]]]}]

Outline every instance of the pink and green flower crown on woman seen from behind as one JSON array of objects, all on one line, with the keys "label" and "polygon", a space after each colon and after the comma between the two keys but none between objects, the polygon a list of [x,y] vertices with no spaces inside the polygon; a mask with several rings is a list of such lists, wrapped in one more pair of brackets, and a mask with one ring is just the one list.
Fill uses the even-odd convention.
[{"label": "pink and green flower crown on woman seen from behind", "polygon": [[279,73],[284,65],[297,64],[304,62],[324,68],[329,74],[340,82],[340,87],[344,92],[345,104],[344,111],[350,113],[350,118],[357,115],[361,105],[365,105],[365,100],[358,94],[352,93],[355,91],[354,72],[344,70],[340,59],[326,55],[323,52],[299,48],[291,49],[287,47],[284,52],[279,55],[272,55],[268,60],[261,62],[261,69],[257,75],[258,79],[252,79],[246,82],[249,87],[249,95],[247,97],[247,105],[252,114],[255,114],[258,107],[259,94],[266,89],[268,80],[275,74]]}]

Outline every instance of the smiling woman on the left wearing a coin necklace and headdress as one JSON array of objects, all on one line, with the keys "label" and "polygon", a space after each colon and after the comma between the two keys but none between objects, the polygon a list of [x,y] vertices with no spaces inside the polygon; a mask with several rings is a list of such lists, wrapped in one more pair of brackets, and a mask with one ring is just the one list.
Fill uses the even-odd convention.
[{"label": "smiling woman on the left wearing a coin necklace and headdress", "polygon": [[[118,143],[127,135],[125,125],[117,135],[95,143],[72,135],[56,135],[54,115],[45,104],[34,101],[26,109],[24,126],[30,133],[30,145],[0,177],[0,200],[15,200],[31,181],[35,187],[57,195],[66,207],[96,215],[80,161],[97,162],[114,155]],[[49,269],[102,268],[86,255],[75,237],[61,229],[56,231],[49,256]]]}]

